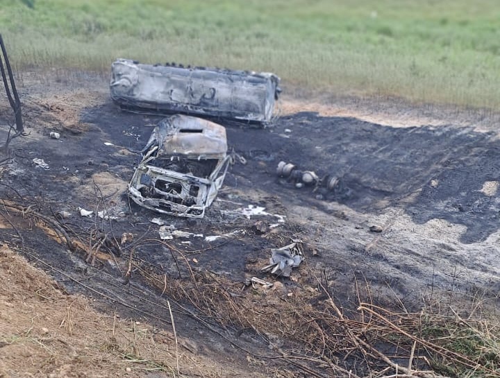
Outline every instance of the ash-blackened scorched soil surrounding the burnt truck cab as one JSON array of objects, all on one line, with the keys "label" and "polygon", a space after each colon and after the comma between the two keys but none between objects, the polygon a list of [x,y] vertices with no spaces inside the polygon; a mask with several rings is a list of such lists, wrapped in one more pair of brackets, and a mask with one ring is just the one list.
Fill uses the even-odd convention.
[{"label": "ash-blackened scorched soil surrounding the burnt truck cab", "polygon": [[[2,198],[57,218],[76,239],[92,232],[105,232],[116,241],[130,233],[133,239],[117,243],[115,255],[104,251],[94,259],[83,248],[69,251],[24,214],[4,212],[10,223],[1,230],[3,240],[21,250],[27,247],[33,254],[28,259],[44,261],[47,265],[36,260],[68,291],[94,296],[102,309],[139,313],[169,327],[161,285],[151,285],[137,268],[130,270],[132,257],[172,280],[208,272],[242,288],[252,276],[275,282],[259,268],[267,263],[270,248],[292,239],[304,242],[306,260],[291,279],[278,279],[277,298],[314,289],[317,277],[346,308],[355,302],[358,282],[369,286],[375,302],[401,301],[408,308],[421,305],[422,298],[436,300],[431,296],[442,291],[500,291],[496,131],[458,122],[382,126],[299,110],[266,129],[221,121],[235,162],[206,217],[194,220],[161,216],[126,198],[138,161],[135,151],[160,117],[117,110],[106,84],[95,78],[78,90],[74,84],[47,87],[26,79],[22,90],[28,135],[12,141],[12,163],[3,166]],[[7,119],[1,117],[3,123]],[[51,131],[59,132],[60,139],[51,139]],[[47,166],[35,164],[34,158]],[[320,177],[335,175],[340,183],[332,191],[297,188],[276,175],[280,161]],[[265,214],[246,216],[242,209],[249,205],[263,207]],[[113,219],[83,217],[78,207],[105,210]],[[57,217],[61,211],[71,215]],[[157,217],[202,236],[162,241],[160,225],[151,223]],[[261,235],[252,227],[256,221],[277,226]],[[372,225],[381,232],[372,232]],[[269,354],[268,338],[240,337],[247,332],[200,323],[195,310],[175,309],[182,319],[179,334],[190,338],[197,352],[240,364],[247,361],[245,350]]]}]

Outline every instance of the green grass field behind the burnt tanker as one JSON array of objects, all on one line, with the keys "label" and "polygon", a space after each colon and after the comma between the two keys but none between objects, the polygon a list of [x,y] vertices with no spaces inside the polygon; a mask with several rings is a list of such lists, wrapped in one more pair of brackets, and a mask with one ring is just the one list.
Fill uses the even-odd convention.
[{"label": "green grass field behind the burnt tanker", "polygon": [[[500,109],[497,0],[1,0],[17,69],[117,57],[273,71],[290,87]],[[33,1],[32,1],[33,2]]]}]

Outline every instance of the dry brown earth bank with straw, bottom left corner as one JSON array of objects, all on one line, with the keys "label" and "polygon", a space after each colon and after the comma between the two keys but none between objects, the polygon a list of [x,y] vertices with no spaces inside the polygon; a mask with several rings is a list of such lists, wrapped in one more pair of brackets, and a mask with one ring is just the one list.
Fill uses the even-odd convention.
[{"label": "dry brown earth bank with straw, bottom left corner", "polygon": [[[14,247],[15,248],[15,247]],[[29,251],[27,251],[29,252]],[[182,347],[172,332],[137,318],[94,311],[17,252],[0,248],[0,377],[226,377],[221,366]]]}]

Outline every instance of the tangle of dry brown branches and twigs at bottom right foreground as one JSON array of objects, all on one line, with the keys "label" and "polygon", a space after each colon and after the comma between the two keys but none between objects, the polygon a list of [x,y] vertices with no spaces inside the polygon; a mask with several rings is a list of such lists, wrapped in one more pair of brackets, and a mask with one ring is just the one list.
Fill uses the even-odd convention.
[{"label": "tangle of dry brown branches and twigs at bottom right foreground", "polygon": [[[315,274],[304,270],[302,275]],[[319,277],[315,288],[287,293],[279,281],[265,289],[208,272],[184,280],[142,274],[162,293],[190,302],[203,318],[263,338],[273,353],[256,357],[285,359],[309,376],[500,376],[499,325],[477,316],[472,311],[477,304],[469,312],[392,311],[365,302],[369,287],[363,287],[358,307],[344,309]]]}]

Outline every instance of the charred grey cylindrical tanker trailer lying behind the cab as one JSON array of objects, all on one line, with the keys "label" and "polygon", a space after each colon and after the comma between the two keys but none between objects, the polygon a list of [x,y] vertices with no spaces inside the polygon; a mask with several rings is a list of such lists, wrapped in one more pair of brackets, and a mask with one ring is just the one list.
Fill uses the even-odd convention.
[{"label": "charred grey cylindrical tanker trailer lying behind the cab", "polygon": [[281,92],[280,78],[267,72],[117,59],[112,74],[111,98],[131,112],[185,113],[265,125]]}]

